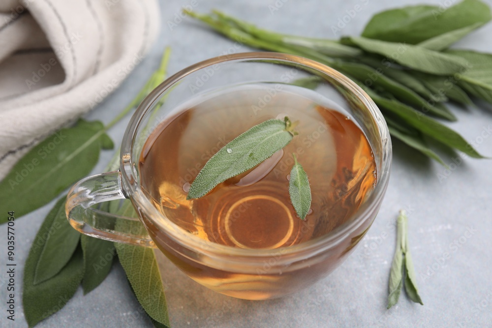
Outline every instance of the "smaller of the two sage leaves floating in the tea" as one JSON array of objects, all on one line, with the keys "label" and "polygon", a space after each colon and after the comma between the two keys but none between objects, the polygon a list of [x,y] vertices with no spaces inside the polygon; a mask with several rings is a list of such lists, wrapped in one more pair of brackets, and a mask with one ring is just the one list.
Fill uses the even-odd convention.
[{"label": "smaller of the two sage leaves floating in the tea", "polygon": [[290,201],[297,212],[297,215],[304,220],[311,208],[311,188],[307,179],[306,171],[294,156],[294,166],[290,171],[289,195]]}]

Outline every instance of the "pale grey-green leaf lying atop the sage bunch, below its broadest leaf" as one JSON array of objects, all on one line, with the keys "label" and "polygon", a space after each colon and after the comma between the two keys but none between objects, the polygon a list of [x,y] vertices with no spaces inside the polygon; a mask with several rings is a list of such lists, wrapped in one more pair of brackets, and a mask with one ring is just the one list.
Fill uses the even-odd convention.
[{"label": "pale grey-green leaf lying atop the sage bunch, below its broadest leaf", "polygon": [[386,62],[398,62],[417,71],[435,75],[452,75],[469,67],[468,61],[458,56],[428,50],[404,43],[392,43],[363,37],[347,37],[343,43],[386,57]]}]

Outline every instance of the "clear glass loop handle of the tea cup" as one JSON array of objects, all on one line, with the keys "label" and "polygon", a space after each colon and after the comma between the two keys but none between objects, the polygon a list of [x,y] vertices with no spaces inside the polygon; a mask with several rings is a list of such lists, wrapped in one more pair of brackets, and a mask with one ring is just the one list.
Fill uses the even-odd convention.
[{"label": "clear glass loop handle of the tea cup", "polygon": [[127,198],[121,172],[113,171],[77,182],[68,192],[65,212],[70,225],[78,232],[132,245],[155,247],[154,241],[137,218],[124,217],[95,209],[102,202]]}]

